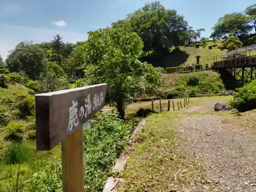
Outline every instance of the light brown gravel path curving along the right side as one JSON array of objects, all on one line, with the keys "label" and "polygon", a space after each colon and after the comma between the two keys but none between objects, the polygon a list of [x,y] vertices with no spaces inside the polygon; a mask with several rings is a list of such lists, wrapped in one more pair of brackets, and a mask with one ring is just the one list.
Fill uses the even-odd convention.
[{"label": "light brown gravel path curving along the right side", "polygon": [[[202,103],[184,110],[193,113],[213,110]],[[221,116],[190,116],[180,131],[187,138],[181,150],[203,163],[204,176],[216,191],[256,191],[256,135],[250,127],[239,126]],[[207,187],[206,187],[207,189]]]}]

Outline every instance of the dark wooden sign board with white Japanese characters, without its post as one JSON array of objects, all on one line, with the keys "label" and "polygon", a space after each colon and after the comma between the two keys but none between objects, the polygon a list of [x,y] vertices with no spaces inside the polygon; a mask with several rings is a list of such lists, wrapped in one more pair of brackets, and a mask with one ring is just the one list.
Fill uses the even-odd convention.
[{"label": "dark wooden sign board with white Japanese characters, without its post", "polygon": [[101,110],[107,84],[37,94],[37,150],[51,150]]}]

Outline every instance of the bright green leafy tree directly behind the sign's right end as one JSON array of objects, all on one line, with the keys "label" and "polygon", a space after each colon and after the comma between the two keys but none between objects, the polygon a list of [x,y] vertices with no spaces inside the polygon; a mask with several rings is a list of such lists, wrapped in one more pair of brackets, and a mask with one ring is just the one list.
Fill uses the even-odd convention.
[{"label": "bright green leafy tree directly behind the sign's right end", "polygon": [[86,77],[77,86],[108,83],[105,101],[115,103],[124,118],[126,105],[135,96],[155,92],[161,80],[160,71],[138,60],[142,48],[141,38],[123,20],[90,32],[83,45]]}]

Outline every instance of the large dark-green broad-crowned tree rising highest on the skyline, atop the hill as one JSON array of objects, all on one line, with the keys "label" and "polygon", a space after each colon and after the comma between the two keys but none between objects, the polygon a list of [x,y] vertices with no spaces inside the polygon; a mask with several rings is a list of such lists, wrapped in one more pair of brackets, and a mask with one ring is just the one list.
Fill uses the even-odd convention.
[{"label": "large dark-green broad-crowned tree rising highest on the skyline, atop the hill", "polygon": [[161,54],[171,46],[184,45],[187,22],[175,10],[165,9],[159,2],[147,3],[127,16],[143,40],[143,51]]}]

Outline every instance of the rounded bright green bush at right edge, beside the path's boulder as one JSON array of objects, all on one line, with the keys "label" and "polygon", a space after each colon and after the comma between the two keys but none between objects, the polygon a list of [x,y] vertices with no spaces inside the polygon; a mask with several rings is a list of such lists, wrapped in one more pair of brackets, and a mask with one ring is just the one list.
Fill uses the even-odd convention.
[{"label": "rounded bright green bush at right edge, beside the path's boulder", "polygon": [[232,108],[244,112],[256,108],[256,79],[234,92],[229,101]]}]

